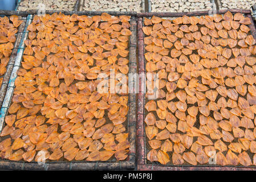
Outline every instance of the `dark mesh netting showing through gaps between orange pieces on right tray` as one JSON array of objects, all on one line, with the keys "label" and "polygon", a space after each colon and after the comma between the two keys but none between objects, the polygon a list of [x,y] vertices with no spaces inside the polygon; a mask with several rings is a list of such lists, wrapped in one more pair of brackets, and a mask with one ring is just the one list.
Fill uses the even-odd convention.
[{"label": "dark mesh netting showing through gaps between orange pieces on right tray", "polygon": [[[200,18],[200,16],[197,16],[197,17]],[[222,17],[223,17],[223,15],[222,15]],[[163,18],[163,19],[173,20],[173,19],[175,19],[175,18],[172,17],[172,18]],[[145,26],[145,25],[143,24],[143,26]],[[182,24],[179,24],[178,26],[181,27]],[[200,25],[200,24],[197,24],[197,26],[198,26],[198,30],[200,30],[200,28],[203,27],[203,26]],[[174,34],[174,33],[172,33],[172,34]],[[248,35],[251,35],[251,33],[248,32],[247,36],[248,36]],[[144,34],[144,38],[146,38],[146,37],[147,37],[147,35]],[[230,38],[229,35],[228,35],[228,38]],[[216,39],[218,40],[218,38],[216,38]],[[168,40],[168,39],[164,39],[164,40]],[[178,38],[177,40],[181,41],[181,38]],[[176,40],[176,41],[177,41],[177,40]],[[193,40],[193,41],[190,40],[189,42],[190,42],[190,43],[191,43],[191,42],[194,42],[194,40]],[[174,44],[174,43],[173,43],[173,44]],[[144,45],[144,48],[145,48],[146,46],[147,46],[147,45]],[[185,47],[185,46],[184,46],[184,47]],[[172,48],[173,48],[173,47],[172,47]],[[172,48],[170,48],[170,49],[172,49]],[[222,48],[224,49],[224,48],[230,48],[230,47],[227,45],[227,46],[222,47]],[[237,46],[235,46],[235,48],[241,48],[241,47],[238,46],[238,44],[237,44]],[[170,49],[169,49],[169,50],[170,50]],[[148,51],[147,51],[146,49],[145,49],[145,53],[148,53]],[[198,54],[198,53],[197,53],[197,49],[196,49],[196,50],[193,50],[193,51],[192,51],[192,54]],[[169,52],[169,54],[166,55],[166,56],[172,57],[172,56],[170,56],[170,52]],[[251,56],[255,57],[255,55],[251,55]],[[187,56],[187,57],[188,57],[188,59],[189,59],[189,56]],[[234,58],[235,58],[235,57],[234,57],[234,55],[232,54],[232,55],[229,57],[228,60],[234,59]],[[178,59],[178,57],[177,57],[177,59]],[[202,59],[202,58],[200,57],[200,59]],[[189,61],[191,61],[191,60],[189,59]],[[147,64],[148,61],[145,60],[145,63]],[[181,66],[185,66],[185,63],[179,63],[179,64],[180,64]],[[166,65],[166,64],[165,64],[165,65]],[[251,65],[249,65],[249,64],[247,64],[247,63],[245,63],[245,64],[243,65],[243,68],[244,68],[245,66],[251,68]],[[227,68],[227,65],[225,64],[223,67],[224,67],[224,68]],[[177,71],[177,69],[176,69],[176,71]],[[158,71],[156,71],[156,72],[158,72]],[[183,72],[182,72],[182,73],[183,73]],[[180,75],[180,77],[182,77],[182,73],[178,73],[178,74]],[[167,75],[168,75],[168,73],[167,73]],[[253,76],[256,76],[255,72],[253,73]],[[198,83],[200,83],[200,84],[202,84],[201,78],[202,78],[201,76],[198,76],[198,77],[197,77]],[[211,78],[214,79],[213,76],[211,76]],[[226,80],[226,78],[227,78],[227,77],[225,77],[224,80]],[[167,79],[162,79],[162,80],[164,80],[165,82],[168,82]],[[177,81],[178,81],[178,80],[174,81],[174,83],[177,84]],[[189,80],[188,80],[188,81],[189,81]],[[187,81],[187,82],[188,82],[188,81]],[[244,85],[246,85],[246,88],[248,88],[248,86],[249,86],[249,84],[248,84],[247,82],[245,82]],[[255,85],[255,84],[253,84],[253,85]],[[208,89],[211,89],[209,85],[206,85],[206,86],[208,87]],[[231,87],[226,86],[226,89],[227,89],[227,90],[228,90],[228,89],[231,89]],[[177,93],[179,90],[184,90],[184,89],[176,88],[176,89],[174,90],[174,93]],[[215,89],[213,89],[213,90],[215,90]],[[157,98],[156,100],[154,100],[156,103],[157,103],[157,101],[159,101],[159,100],[165,100],[165,98],[166,98],[166,97],[165,97],[165,94],[168,93],[168,90],[167,90],[166,87],[164,86],[164,88],[161,88],[161,92],[162,92],[162,98]],[[205,92],[202,92],[202,93],[205,94]],[[245,96],[242,96],[241,94],[238,93],[238,97],[245,98],[245,100],[246,100],[247,94],[249,94],[249,93],[246,92]],[[221,97],[222,97],[222,96],[220,96],[220,94],[218,94],[218,96],[217,96],[215,102],[217,103],[217,101],[218,101]],[[203,104],[203,105],[209,105],[209,100],[208,100],[208,98],[206,98],[206,100],[207,100],[206,103],[201,102],[201,104]],[[225,100],[226,100],[226,102],[227,102],[227,101],[229,100],[229,98],[226,97]],[[146,94],[146,97],[145,97],[145,104],[147,104],[148,101],[149,101],[149,100],[148,100],[147,94]],[[174,102],[174,103],[175,103],[175,102],[178,102],[178,101],[179,101],[178,98],[177,98],[177,97],[174,97],[174,98],[172,98],[171,100],[169,100],[168,103],[169,103],[169,102]],[[157,105],[157,104],[156,104],[156,105]],[[188,101],[186,101],[186,105],[187,105],[188,108],[191,107],[191,106],[196,106],[196,107],[200,106],[200,105],[198,105],[198,102],[196,102],[195,104],[188,104]],[[159,107],[157,106],[157,108],[159,108]],[[227,110],[231,110],[232,107],[227,106],[226,109],[227,109]],[[170,111],[169,109],[167,109],[167,110],[168,110],[170,113],[172,113],[172,111]],[[218,109],[218,112],[220,112],[219,109]],[[147,109],[144,109],[144,114],[145,114],[145,115],[144,115],[144,119],[145,119],[145,117],[146,117],[149,113],[153,113],[153,115],[155,115],[156,121],[159,121],[159,120],[160,120],[160,118],[158,117],[156,111],[150,111],[150,112],[148,112]],[[214,113],[214,111],[213,111],[213,110],[210,110],[210,113],[209,113],[208,117],[214,118],[214,114],[213,114],[213,113]],[[175,111],[174,111],[172,114],[175,115]],[[202,125],[200,124],[200,114],[201,114],[200,111],[198,111],[197,116],[196,116],[196,122],[194,122],[194,124],[193,124],[193,127],[196,127],[196,129],[200,129],[200,126],[202,126]],[[189,115],[187,110],[185,111],[185,115],[186,115],[186,116]],[[239,115],[239,119],[240,119],[240,120],[241,120],[242,117],[245,117],[245,114],[241,113],[241,115]],[[177,117],[176,117],[176,118],[177,118]],[[229,120],[229,119],[225,119],[225,118],[223,118],[223,119],[224,119],[224,120]],[[178,122],[179,122],[179,119],[177,118],[177,122],[176,122],[177,130],[176,130],[174,133],[175,133],[175,134],[180,134],[180,135],[184,135],[184,134],[186,135],[186,132],[183,132],[183,131],[181,131],[181,130],[178,130]],[[220,121],[217,121],[217,122],[219,123]],[[253,122],[253,120],[252,120],[252,122]],[[166,122],[166,123],[168,123],[168,122]],[[156,125],[155,125],[155,126],[156,126]],[[144,122],[144,127],[147,127],[147,124],[146,124],[145,122]],[[255,129],[254,129],[255,126],[254,126],[253,128],[250,128],[250,129],[246,129],[245,127],[239,127],[239,128],[242,129],[243,132],[245,132],[246,130],[250,130],[250,132],[255,131]],[[165,128],[165,129],[166,129],[166,128]],[[222,129],[221,129],[220,127],[218,127],[217,130],[220,131],[220,133],[221,133],[221,131],[222,131]],[[160,131],[162,131],[162,130],[159,129],[158,132],[160,132]],[[234,134],[233,134],[233,130],[232,130],[232,131],[229,131],[229,133],[230,133],[231,135],[234,135]],[[170,134],[173,134],[173,133],[170,132]],[[254,134],[254,135],[255,135],[255,134]],[[210,138],[210,135],[207,135],[207,137]],[[192,142],[192,143],[195,143],[195,142],[197,141],[197,138],[198,138],[198,137],[193,137],[193,142]],[[156,139],[156,137],[154,137],[153,139]],[[212,139],[212,138],[210,138],[210,139],[212,140],[213,143],[216,143],[217,140],[218,140],[218,139]],[[170,140],[170,138],[169,138],[169,140]],[[227,151],[229,150],[229,147],[228,147],[228,146],[229,146],[230,142],[225,142],[225,141],[223,141],[222,138],[221,138],[221,140],[222,140],[222,142],[223,142],[223,143],[226,145],[226,147],[227,147],[227,149],[222,152],[222,154],[224,154],[224,155],[226,156]],[[161,140],[161,144],[163,144],[164,141],[165,141],[165,140]],[[172,142],[172,146],[174,146],[174,142],[173,142],[172,140],[170,140],[170,142]],[[234,140],[232,141],[232,143],[238,143],[238,142],[239,142],[239,141],[238,141],[238,138],[234,138]],[[191,143],[191,144],[192,144],[192,143]],[[213,144],[213,146],[214,146],[214,144]],[[161,148],[161,147],[160,147],[160,148]],[[160,148],[157,148],[156,150],[159,151]],[[204,149],[204,146],[203,146],[202,148]],[[151,147],[151,145],[149,144],[149,138],[147,137],[147,133],[145,133],[145,158],[147,158],[147,155],[148,155],[149,151],[151,151],[151,150],[152,150],[152,147]],[[216,149],[216,153],[217,153],[218,151],[219,151],[219,150]],[[242,150],[241,153],[242,153],[243,151],[244,151],[244,150]],[[249,148],[247,148],[247,150],[245,150],[245,151],[246,151],[247,154],[249,155],[249,157],[250,157],[250,159],[251,159],[251,162],[253,162],[253,161],[254,161],[254,158],[255,158],[255,153],[254,153],[254,151],[251,152]],[[174,152],[174,149],[173,149],[173,148],[172,148],[172,151],[166,152],[166,154],[169,155],[169,160],[170,160],[170,161],[169,161],[168,163],[166,163],[164,166],[192,166],[192,164],[186,162],[186,160],[184,160],[184,163],[182,163],[181,165],[173,164],[173,161],[172,161],[172,154],[173,154],[173,152]],[[182,156],[182,154],[184,154],[184,152],[192,152],[192,151],[191,151],[191,145],[190,145],[190,147],[185,148],[184,151],[181,152],[180,155]],[[234,152],[234,151],[233,151],[233,152]],[[237,155],[237,156],[239,155],[239,153],[237,153],[237,152],[234,152],[234,153],[235,153],[235,155]],[[194,154],[194,155],[197,155],[195,152],[193,152],[193,154]],[[156,161],[151,162],[151,161],[149,161],[148,159],[147,159],[147,164],[162,165],[160,162],[156,162]],[[197,162],[197,166],[218,166],[218,164],[209,164],[209,163],[202,163],[202,164],[200,164],[200,163]],[[233,165],[227,165],[227,166],[233,166]],[[237,164],[237,166],[243,166],[243,165]]]}]

